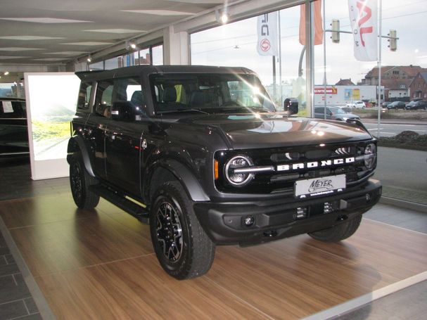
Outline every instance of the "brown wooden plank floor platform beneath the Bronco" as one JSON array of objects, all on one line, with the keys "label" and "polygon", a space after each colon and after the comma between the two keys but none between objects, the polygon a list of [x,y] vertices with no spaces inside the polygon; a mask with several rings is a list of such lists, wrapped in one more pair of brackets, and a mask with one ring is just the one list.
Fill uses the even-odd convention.
[{"label": "brown wooden plank floor platform beneath the Bronco", "polygon": [[427,271],[426,234],[368,219],[342,243],[217,247],[206,276],[176,281],[148,226],[106,201],[4,200],[0,215],[58,319],[298,319]]}]

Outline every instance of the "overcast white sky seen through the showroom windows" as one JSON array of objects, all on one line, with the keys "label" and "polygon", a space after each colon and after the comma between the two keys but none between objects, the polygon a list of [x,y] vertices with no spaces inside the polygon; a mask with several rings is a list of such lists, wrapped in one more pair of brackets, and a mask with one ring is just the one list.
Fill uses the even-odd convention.
[{"label": "overcast white sky seen through the showroom windows", "polygon": [[[378,0],[379,1],[379,0]],[[397,51],[388,49],[382,40],[382,65],[419,65],[427,68],[427,0],[383,0],[382,34],[397,30]],[[350,31],[348,1],[326,0],[326,30],[332,19],[340,20],[340,29]],[[302,45],[298,41],[300,7],[280,11],[282,81],[298,77],[298,61]],[[257,18],[230,23],[191,35],[191,63],[200,65],[243,66],[260,75],[265,85],[272,83],[272,57],[256,51]],[[352,35],[340,34],[340,43],[333,44],[326,32],[326,79],[335,84],[340,78],[359,82],[376,66],[354,58]],[[315,46],[315,83],[322,84],[324,72],[323,46]],[[305,63],[303,63],[303,68]],[[279,68],[279,64],[277,65]],[[279,70],[277,70],[279,81]]]}]

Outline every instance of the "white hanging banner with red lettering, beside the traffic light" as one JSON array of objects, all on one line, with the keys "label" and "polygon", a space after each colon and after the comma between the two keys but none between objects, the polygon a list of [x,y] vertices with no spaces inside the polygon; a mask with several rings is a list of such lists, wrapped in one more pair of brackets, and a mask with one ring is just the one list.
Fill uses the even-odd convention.
[{"label": "white hanging banner with red lettering, beside the traffic light", "polygon": [[348,0],[355,58],[360,61],[378,59],[377,0]]}]

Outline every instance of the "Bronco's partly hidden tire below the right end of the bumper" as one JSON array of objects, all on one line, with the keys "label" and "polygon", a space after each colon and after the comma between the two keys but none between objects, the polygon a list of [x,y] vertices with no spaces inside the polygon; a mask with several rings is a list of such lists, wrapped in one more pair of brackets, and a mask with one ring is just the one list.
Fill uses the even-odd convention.
[{"label": "Bronco's partly hidden tire below the right end of the bumper", "polygon": [[311,232],[308,234],[312,238],[319,241],[338,242],[352,236],[352,234],[356,232],[357,228],[359,228],[361,221],[362,215],[357,215],[357,217],[348,219],[345,222],[331,228]]}]

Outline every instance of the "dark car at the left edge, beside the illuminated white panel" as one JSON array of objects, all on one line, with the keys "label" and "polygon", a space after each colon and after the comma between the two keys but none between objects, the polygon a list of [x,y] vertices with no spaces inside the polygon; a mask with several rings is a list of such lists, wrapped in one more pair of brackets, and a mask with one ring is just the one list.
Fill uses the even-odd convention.
[{"label": "dark car at the left edge, beside the illuminated white panel", "polygon": [[0,157],[29,154],[25,100],[0,98]]}]

